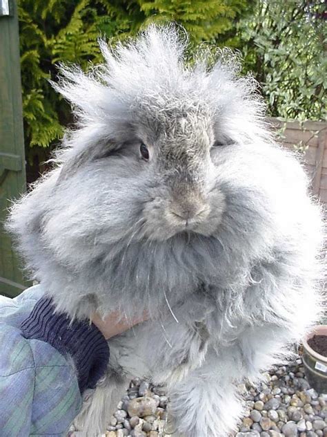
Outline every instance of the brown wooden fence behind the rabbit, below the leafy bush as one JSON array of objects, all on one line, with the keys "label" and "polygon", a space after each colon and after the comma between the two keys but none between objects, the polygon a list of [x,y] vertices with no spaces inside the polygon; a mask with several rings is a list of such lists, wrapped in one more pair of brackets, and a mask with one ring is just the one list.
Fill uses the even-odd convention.
[{"label": "brown wooden fence behind the rabbit, below the leafy bush", "polygon": [[312,192],[327,207],[327,123],[282,122],[277,118],[270,118],[269,121],[285,147],[298,149],[304,154]]}]

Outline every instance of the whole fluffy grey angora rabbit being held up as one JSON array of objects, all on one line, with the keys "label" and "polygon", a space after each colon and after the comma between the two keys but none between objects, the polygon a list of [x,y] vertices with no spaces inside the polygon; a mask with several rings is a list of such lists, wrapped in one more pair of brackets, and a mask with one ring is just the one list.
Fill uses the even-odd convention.
[{"label": "whole fluffy grey angora rabbit being held up", "polygon": [[228,51],[186,64],[170,26],[101,50],[90,73],[61,67],[77,128],[9,226],[58,310],[148,314],[109,341],[87,436],[132,376],[166,385],[177,435],[226,436],[237,382],[288,356],[319,314],[321,212]]}]

